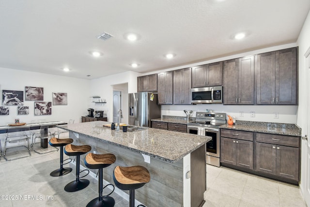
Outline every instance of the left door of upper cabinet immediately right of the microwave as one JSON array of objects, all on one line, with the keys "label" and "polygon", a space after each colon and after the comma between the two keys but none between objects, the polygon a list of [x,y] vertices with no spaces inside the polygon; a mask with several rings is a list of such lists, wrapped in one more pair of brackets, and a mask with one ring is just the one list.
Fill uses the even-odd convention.
[{"label": "left door of upper cabinet immediately right of the microwave", "polygon": [[238,103],[238,59],[224,62],[224,104]]}]

